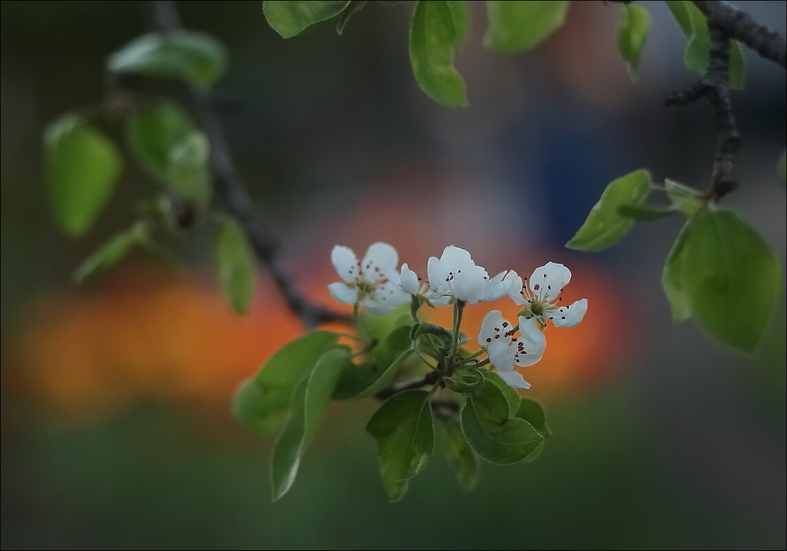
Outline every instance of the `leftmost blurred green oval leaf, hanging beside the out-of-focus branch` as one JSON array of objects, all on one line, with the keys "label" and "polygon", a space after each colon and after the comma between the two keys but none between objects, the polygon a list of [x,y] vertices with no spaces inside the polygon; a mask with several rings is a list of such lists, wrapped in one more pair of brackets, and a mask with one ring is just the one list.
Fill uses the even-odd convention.
[{"label": "leftmost blurred green oval leaf, hanging beside the out-of-focus branch", "polygon": [[102,133],[64,115],[47,125],[44,155],[55,219],[66,235],[84,235],[115,188],[120,154]]}]

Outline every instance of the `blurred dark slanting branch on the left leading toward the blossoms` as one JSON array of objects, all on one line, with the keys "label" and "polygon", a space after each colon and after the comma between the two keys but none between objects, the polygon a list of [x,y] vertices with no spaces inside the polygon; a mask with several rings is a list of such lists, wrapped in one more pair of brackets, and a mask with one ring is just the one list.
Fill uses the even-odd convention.
[{"label": "blurred dark slanting branch on the left leading toward the blossoms", "polygon": [[[153,0],[150,6],[153,26],[159,31],[169,32],[181,27],[175,2]],[[238,172],[209,93],[195,87],[190,87],[189,91],[194,99],[194,109],[202,130],[210,142],[210,163],[216,179],[216,189],[243,227],[257,261],[268,268],[290,310],[309,328],[327,321],[349,323],[348,315],[312,304],[294,287],[290,275],[279,260],[279,242],[260,220],[246,183]]]}]

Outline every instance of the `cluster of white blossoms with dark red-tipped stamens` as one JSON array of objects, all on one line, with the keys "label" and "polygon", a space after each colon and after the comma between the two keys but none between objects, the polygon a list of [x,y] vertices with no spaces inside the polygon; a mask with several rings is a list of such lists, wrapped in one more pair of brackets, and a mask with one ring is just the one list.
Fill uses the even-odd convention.
[{"label": "cluster of white blossoms with dark red-tipped stamens", "polygon": [[[335,246],[331,262],[343,281],[331,283],[328,289],[340,302],[361,305],[375,314],[386,314],[397,306],[412,304],[413,316],[420,305],[453,305],[458,313],[453,334],[458,335],[461,311],[465,305],[482,301],[496,301],[508,295],[522,308],[518,323],[504,319],[499,310],[486,314],[478,333],[481,349],[470,357],[476,365],[491,364],[506,383],[518,388],[530,384],[515,370],[515,366],[535,364],[544,354],[547,321],[555,327],[574,327],[585,316],[587,299],[571,305],[561,305],[560,294],[569,281],[571,272],[563,264],[549,262],[536,268],[530,279],[517,272],[503,271],[490,278],[484,268],[475,264],[467,250],[447,246],[441,257],[430,257],[427,279],[419,278],[408,264],[397,267],[399,255],[387,243],[376,242],[362,261],[345,246]],[[487,359],[475,360],[481,353]],[[449,371],[461,364],[451,357]],[[455,365],[456,364],[456,365]]]}]

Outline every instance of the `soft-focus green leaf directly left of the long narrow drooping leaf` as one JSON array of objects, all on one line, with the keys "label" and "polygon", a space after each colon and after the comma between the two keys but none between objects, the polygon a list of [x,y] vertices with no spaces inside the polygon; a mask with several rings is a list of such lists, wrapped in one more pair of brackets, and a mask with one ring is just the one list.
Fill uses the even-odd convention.
[{"label": "soft-focus green leaf directly left of the long narrow drooping leaf", "polygon": [[235,418],[260,435],[275,431],[291,408],[298,383],[324,353],[336,348],[337,341],[335,333],[315,331],[280,348],[235,391],[231,405]]}]

